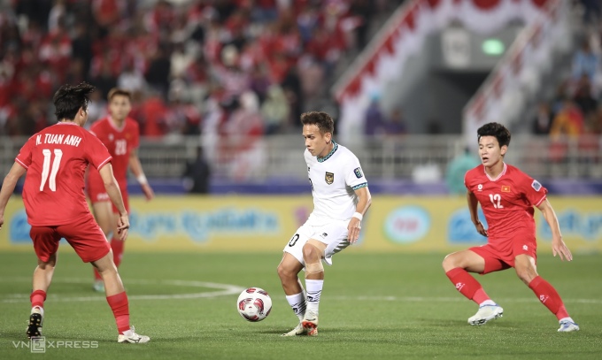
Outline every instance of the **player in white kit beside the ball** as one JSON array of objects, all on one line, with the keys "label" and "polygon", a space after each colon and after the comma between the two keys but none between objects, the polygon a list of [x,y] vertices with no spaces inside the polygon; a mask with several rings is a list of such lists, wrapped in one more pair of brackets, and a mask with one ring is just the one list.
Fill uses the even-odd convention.
[{"label": "player in white kit beside the ball", "polygon": [[[332,139],[333,119],[320,111],[301,115],[305,162],[313,212],[284,247],[278,276],[299,324],[282,336],[318,334],[318,306],[324,284],[322,260],[358,241],[371,197],[358,157]],[[305,268],[306,294],[298,278]]]}]

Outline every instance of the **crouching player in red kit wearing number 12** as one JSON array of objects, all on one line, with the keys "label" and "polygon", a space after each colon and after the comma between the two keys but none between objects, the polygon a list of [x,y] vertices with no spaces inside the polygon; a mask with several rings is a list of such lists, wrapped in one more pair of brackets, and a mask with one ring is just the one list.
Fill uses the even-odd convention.
[{"label": "crouching player in red kit wearing number 12", "polygon": [[[487,244],[445,257],[445,274],[458,291],[479,304],[475,316],[468,318],[470,325],[482,325],[500,318],[504,310],[482,289],[481,284],[468,272],[486,274],[513,267],[522,280],[559,319],[559,332],[579,330],[549,282],[537,274],[536,226],[533,218],[537,207],[552,229],[552,253],[560,260],[571,261],[573,256],[562,241],[556,213],[548,201],[548,190],[537,180],[512,165],[506,165],[504,156],[510,143],[510,132],[498,123],[489,123],[477,130],[481,165],[469,170],[464,177],[467,187],[468,209],[476,231],[487,236]],[[477,216],[481,204],[488,229]]]}]

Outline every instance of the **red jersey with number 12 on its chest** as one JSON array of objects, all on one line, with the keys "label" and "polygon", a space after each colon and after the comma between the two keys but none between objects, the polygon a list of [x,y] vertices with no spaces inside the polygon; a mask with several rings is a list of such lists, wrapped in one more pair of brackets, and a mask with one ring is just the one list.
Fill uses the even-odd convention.
[{"label": "red jersey with number 12 on its chest", "polygon": [[506,164],[498,178],[491,179],[485,167],[478,165],[466,173],[464,184],[481,203],[489,243],[511,239],[519,232],[535,236],[533,207],[542,203],[548,193],[537,180]]}]

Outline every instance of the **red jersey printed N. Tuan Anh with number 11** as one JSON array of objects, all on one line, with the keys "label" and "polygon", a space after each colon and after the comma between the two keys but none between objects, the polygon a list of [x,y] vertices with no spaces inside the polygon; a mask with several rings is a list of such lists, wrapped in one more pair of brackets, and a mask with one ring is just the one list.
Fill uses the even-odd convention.
[{"label": "red jersey printed N. Tuan Anh with number 11", "polygon": [[23,203],[31,226],[59,226],[90,214],[84,173],[111,161],[96,136],[74,123],[48,126],[30,137],[15,158],[27,169]]}]

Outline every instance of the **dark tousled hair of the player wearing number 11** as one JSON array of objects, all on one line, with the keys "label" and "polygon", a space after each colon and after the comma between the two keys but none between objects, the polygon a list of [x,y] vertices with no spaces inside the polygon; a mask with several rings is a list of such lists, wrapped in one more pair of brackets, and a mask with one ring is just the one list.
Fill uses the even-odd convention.
[{"label": "dark tousled hair of the player wearing number 11", "polygon": [[75,86],[66,84],[58,88],[52,98],[55,107],[54,114],[57,115],[57,119],[59,121],[62,119],[73,120],[80,108],[84,111],[88,110],[90,100],[88,96],[94,90],[95,88],[86,82],[81,82]]}]

